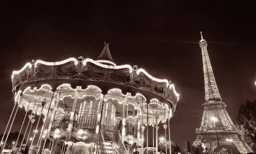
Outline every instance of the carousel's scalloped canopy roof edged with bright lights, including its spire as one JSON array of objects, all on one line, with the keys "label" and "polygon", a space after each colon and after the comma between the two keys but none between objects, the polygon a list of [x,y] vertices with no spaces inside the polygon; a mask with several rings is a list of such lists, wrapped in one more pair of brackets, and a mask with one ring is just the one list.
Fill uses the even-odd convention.
[{"label": "carousel's scalloped canopy roof edged with bright lights, including its spire", "polygon": [[[95,60],[84,59],[82,56],[59,62],[32,60],[21,70],[12,73],[12,90],[15,98],[18,98],[18,94],[24,94],[25,101],[37,103],[35,98],[50,101],[55,96],[52,94],[55,91],[59,91],[59,93],[62,91],[61,95],[67,93],[67,96],[72,97],[78,91],[81,94],[80,99],[83,101],[91,96],[98,98],[102,93],[109,98],[117,98],[118,102],[112,100],[117,107],[123,98],[127,98],[128,101],[130,99],[138,101],[141,97],[143,106],[153,101],[163,108],[168,105],[168,108],[174,112],[179,94],[171,81],[155,78],[144,69],[138,68],[137,65],[133,67],[130,65],[117,66],[111,57],[108,45],[109,43],[105,42],[101,54]],[[65,86],[62,86],[64,84]],[[92,90],[90,87],[92,85],[96,89]],[[86,93],[90,93],[90,96],[85,97]],[[66,98],[65,100],[63,105],[68,107],[69,103],[72,103],[72,99]],[[151,104],[149,108],[156,110],[157,104]],[[164,111],[160,108],[157,110],[159,110],[158,112]]]}]

